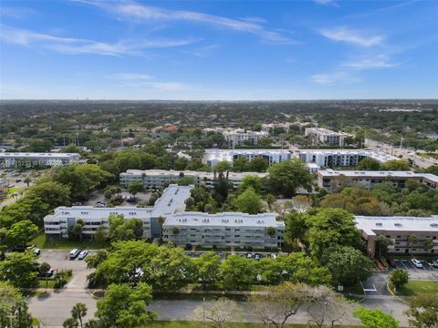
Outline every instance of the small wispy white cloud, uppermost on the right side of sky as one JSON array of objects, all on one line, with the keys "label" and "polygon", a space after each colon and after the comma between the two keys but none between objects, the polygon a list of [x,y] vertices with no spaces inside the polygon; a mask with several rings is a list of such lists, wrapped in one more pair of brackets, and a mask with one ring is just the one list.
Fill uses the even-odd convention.
[{"label": "small wispy white cloud, uppermost on the right side of sky", "polygon": [[380,46],[385,36],[365,36],[362,32],[351,30],[346,27],[336,29],[322,29],[318,31],[321,36],[330,40],[346,42],[355,46]]}]

